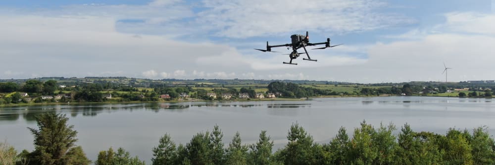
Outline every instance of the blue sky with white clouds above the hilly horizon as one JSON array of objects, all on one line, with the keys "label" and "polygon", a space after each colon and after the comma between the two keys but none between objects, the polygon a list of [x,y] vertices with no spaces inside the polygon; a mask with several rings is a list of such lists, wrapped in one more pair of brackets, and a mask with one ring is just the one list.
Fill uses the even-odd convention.
[{"label": "blue sky with white clouds above the hilly horizon", "polygon": [[[254,50],[306,31],[344,45]],[[494,80],[494,53],[495,0],[0,1],[0,79],[458,82]]]}]

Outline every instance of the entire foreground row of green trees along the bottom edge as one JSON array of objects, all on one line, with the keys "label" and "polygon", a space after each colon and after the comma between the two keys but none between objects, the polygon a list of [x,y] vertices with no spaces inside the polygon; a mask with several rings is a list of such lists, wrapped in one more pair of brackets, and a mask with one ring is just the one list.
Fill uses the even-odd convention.
[{"label": "entire foreground row of green trees along the bottom edge", "polygon": [[[89,165],[82,148],[76,147],[77,131],[67,125],[65,115],[47,113],[37,117],[39,129],[35,151],[16,154],[13,147],[0,144],[1,165]],[[242,143],[236,132],[223,144],[218,125],[211,132],[199,132],[185,145],[175,144],[169,134],[159,138],[151,150],[152,165],[492,165],[495,142],[487,127],[468,130],[448,129],[445,135],[415,132],[408,124],[394,135],[396,126],[375,128],[365,121],[349,137],[341,127],[328,143],[318,144],[298,123],[288,130],[288,143],[273,153],[274,142],[261,131],[254,144]],[[100,151],[95,165],[145,165],[128,151],[112,148]]]}]

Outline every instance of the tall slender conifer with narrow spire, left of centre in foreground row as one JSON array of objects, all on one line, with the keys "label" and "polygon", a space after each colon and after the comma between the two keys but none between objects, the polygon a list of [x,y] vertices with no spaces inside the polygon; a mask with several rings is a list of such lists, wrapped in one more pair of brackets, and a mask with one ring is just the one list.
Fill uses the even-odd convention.
[{"label": "tall slender conifer with narrow spire, left of centre in foreground row", "polygon": [[210,159],[214,165],[223,165],[225,159],[223,158],[225,150],[223,149],[222,143],[223,132],[215,124],[213,127],[213,131],[210,134]]}]

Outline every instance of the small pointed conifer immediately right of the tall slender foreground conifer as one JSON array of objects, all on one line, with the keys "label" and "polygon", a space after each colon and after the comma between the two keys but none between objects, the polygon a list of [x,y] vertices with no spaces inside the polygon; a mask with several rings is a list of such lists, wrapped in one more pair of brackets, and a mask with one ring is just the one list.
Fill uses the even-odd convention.
[{"label": "small pointed conifer immediately right of the tall slender foreground conifer", "polygon": [[242,144],[241,134],[236,132],[229,143],[226,152],[227,165],[246,165],[247,164],[247,146]]}]

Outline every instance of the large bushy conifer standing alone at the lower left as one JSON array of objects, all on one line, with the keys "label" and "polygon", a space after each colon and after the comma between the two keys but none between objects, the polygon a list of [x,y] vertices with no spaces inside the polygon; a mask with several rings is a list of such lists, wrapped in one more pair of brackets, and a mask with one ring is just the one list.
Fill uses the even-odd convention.
[{"label": "large bushy conifer standing alone at the lower left", "polygon": [[34,135],[32,162],[39,165],[67,164],[74,154],[68,151],[77,141],[77,131],[73,130],[74,125],[67,124],[68,120],[65,114],[44,113],[36,116],[39,129],[28,128]]}]

